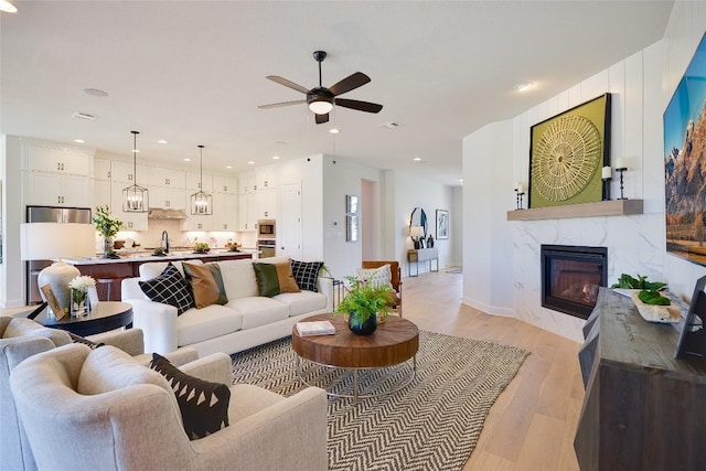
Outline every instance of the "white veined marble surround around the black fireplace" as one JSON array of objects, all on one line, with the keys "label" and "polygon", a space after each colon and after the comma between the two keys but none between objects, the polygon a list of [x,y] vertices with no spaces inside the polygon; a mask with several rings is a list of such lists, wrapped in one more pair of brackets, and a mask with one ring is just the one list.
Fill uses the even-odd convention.
[{"label": "white veined marble surround around the black fireplace", "polygon": [[513,308],[517,317],[576,342],[584,340],[585,321],[542,307],[542,244],[607,247],[609,286],[623,272],[646,275],[651,279],[663,276],[662,213],[515,218],[509,224],[513,236]]}]

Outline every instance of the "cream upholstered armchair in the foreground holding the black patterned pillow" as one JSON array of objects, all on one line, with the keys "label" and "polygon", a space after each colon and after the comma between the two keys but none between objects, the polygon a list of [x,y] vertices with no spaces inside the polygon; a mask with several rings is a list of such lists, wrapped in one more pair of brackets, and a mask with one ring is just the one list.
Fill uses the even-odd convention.
[{"label": "cream upholstered armchair in the foreground holding the black patterned pillow", "polygon": [[[232,382],[216,353],[181,367]],[[229,426],[189,440],[175,395],[158,372],[110,346],[72,344],[34,355],[10,377],[40,469],[325,470],[327,395],[282,397],[231,386]]]}]

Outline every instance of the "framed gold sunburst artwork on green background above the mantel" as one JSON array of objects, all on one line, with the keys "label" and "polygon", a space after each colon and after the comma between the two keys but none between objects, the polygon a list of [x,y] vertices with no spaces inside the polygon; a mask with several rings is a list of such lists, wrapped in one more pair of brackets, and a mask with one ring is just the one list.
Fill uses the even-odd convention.
[{"label": "framed gold sunburst artwork on green background above the mantel", "polygon": [[534,125],[530,132],[530,207],[603,199],[610,165],[610,94]]}]

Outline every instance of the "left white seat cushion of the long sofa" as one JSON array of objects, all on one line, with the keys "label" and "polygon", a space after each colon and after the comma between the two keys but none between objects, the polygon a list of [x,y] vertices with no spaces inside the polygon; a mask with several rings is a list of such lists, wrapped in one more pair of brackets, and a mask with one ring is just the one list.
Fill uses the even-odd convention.
[{"label": "left white seat cushion of the long sofa", "polygon": [[212,304],[190,309],[176,318],[176,346],[216,339],[243,327],[243,315],[234,309]]}]

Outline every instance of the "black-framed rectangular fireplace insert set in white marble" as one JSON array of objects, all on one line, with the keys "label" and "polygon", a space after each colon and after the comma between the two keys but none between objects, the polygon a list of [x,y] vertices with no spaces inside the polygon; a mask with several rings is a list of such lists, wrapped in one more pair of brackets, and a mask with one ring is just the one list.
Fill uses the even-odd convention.
[{"label": "black-framed rectangular fireplace insert set in white marble", "polygon": [[598,287],[608,281],[608,249],[571,245],[543,245],[542,306],[588,319]]}]

